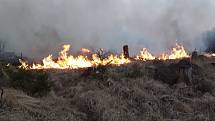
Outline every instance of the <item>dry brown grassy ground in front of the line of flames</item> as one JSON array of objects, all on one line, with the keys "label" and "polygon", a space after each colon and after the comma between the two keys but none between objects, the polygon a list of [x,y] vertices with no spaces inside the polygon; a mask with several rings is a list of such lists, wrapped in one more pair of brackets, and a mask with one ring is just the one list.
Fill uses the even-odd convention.
[{"label": "dry brown grassy ground in front of the line of flames", "polygon": [[215,121],[215,60],[193,62],[191,82],[176,63],[46,70],[45,97],[4,88],[0,121]]}]

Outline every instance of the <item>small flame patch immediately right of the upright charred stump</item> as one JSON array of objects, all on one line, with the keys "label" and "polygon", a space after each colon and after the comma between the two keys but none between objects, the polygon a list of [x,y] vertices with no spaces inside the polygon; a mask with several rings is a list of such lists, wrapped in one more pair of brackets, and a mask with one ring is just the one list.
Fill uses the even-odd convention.
[{"label": "small flame patch immediately right of the upright charred stump", "polygon": [[146,48],[143,48],[140,51],[140,55],[137,55],[135,59],[136,60],[143,60],[143,61],[154,60],[155,56],[153,56]]}]

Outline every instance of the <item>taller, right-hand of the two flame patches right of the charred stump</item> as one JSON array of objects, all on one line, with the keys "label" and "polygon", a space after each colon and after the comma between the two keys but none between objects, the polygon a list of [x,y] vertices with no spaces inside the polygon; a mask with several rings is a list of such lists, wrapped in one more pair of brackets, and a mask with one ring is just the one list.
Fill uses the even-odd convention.
[{"label": "taller, right-hand of the two flame patches right of the charred stump", "polygon": [[173,59],[181,59],[181,58],[189,58],[189,54],[186,52],[182,45],[176,43],[176,47],[172,48],[171,52],[161,54],[158,59],[159,60],[173,60]]}]

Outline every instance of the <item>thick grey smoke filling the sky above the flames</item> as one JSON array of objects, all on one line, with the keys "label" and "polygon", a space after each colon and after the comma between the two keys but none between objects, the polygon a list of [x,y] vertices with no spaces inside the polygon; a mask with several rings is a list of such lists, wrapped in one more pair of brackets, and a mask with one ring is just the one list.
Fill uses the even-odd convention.
[{"label": "thick grey smoke filling the sky above the flames", "polygon": [[202,33],[215,27],[214,0],[0,0],[0,39],[30,57],[63,43],[133,53],[174,45],[206,48]]}]

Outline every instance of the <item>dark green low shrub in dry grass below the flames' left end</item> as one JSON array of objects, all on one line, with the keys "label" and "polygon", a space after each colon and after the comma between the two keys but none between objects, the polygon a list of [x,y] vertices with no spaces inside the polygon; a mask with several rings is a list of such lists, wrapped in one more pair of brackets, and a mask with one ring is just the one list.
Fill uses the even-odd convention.
[{"label": "dark green low shrub in dry grass below the flames' left end", "polygon": [[31,96],[44,96],[51,90],[48,74],[43,71],[18,69],[10,71],[10,86]]}]

